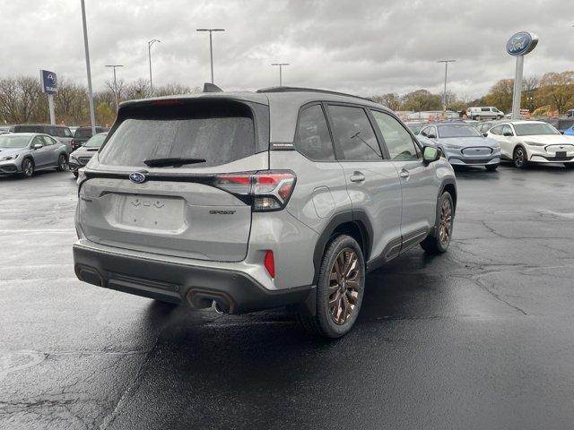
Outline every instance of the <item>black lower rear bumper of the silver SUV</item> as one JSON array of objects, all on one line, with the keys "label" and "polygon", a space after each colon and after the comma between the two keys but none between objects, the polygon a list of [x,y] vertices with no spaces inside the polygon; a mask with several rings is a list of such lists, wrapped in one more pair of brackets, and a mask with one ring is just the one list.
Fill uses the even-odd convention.
[{"label": "black lower rear bumper of the silver SUV", "polygon": [[79,280],[102,288],[196,308],[215,300],[230,314],[244,314],[308,299],[315,287],[269,290],[247,273],[180,264],[74,245],[74,271]]}]

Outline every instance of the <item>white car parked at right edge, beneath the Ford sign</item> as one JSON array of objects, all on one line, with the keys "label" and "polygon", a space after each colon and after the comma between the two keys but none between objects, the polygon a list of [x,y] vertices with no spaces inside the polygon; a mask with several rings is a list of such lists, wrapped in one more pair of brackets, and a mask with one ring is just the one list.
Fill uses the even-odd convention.
[{"label": "white car parked at right edge, beneath the Ford sign", "polygon": [[563,163],[574,168],[574,136],[564,136],[542,121],[509,121],[492,127],[488,137],[500,143],[502,159],[517,168],[528,163]]}]

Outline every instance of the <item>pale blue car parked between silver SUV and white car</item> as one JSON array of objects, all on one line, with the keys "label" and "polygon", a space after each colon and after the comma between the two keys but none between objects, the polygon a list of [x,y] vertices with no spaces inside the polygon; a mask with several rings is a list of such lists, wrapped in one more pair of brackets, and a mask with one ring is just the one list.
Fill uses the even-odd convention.
[{"label": "pale blue car parked between silver SUV and white car", "polygon": [[484,137],[476,127],[465,123],[437,123],[424,127],[421,135],[433,142],[453,166],[500,165],[500,144]]}]

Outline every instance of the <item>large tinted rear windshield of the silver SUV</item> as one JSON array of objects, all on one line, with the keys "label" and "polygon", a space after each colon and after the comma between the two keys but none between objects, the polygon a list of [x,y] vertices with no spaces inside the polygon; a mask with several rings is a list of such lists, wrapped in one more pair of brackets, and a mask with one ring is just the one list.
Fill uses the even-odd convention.
[{"label": "large tinted rear windshield of the silver SUV", "polygon": [[144,167],[145,159],[184,158],[205,159],[194,166],[208,168],[257,152],[253,114],[243,103],[127,107],[125,115],[100,152],[102,164]]}]

